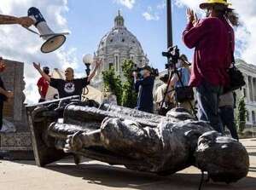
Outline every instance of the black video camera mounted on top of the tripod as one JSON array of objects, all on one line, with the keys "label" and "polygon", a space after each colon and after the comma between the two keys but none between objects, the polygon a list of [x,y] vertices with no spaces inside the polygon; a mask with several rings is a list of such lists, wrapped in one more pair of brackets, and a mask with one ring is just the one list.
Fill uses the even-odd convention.
[{"label": "black video camera mounted on top of the tripod", "polygon": [[168,59],[166,69],[174,67],[174,65],[177,64],[177,61],[180,58],[179,49],[177,48],[177,45],[170,47],[169,49],[167,49],[167,52],[163,52],[162,55],[167,57]]}]

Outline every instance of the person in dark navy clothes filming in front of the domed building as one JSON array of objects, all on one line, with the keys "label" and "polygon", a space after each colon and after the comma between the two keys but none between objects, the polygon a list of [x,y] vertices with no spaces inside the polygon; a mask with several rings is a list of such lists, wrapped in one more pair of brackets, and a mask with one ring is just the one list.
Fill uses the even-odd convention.
[{"label": "person in dark navy clothes filming in front of the domed building", "polygon": [[137,109],[143,112],[153,113],[153,88],[154,76],[152,76],[152,68],[144,66],[141,70],[142,77],[139,79],[138,73],[133,72],[135,90],[138,93]]}]

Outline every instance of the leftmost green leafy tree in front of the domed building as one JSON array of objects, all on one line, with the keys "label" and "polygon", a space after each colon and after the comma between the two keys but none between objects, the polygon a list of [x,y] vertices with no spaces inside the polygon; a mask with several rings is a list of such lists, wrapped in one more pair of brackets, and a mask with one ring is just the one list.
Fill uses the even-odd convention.
[{"label": "leftmost green leafy tree in front of the domed building", "polygon": [[122,103],[122,83],[120,76],[117,76],[114,72],[113,66],[107,71],[102,72],[104,89],[109,89],[114,95],[116,95],[118,105]]}]

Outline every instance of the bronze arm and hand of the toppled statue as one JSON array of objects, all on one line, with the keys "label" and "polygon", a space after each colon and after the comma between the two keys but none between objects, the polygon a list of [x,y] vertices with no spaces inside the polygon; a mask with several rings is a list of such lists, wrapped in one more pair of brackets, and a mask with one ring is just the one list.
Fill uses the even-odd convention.
[{"label": "bronze arm and hand of the toppled statue", "polygon": [[148,158],[160,153],[162,143],[156,129],[143,128],[131,120],[106,118],[101,130],[90,133],[81,131],[67,138],[66,151],[88,147],[105,147],[119,155]]}]

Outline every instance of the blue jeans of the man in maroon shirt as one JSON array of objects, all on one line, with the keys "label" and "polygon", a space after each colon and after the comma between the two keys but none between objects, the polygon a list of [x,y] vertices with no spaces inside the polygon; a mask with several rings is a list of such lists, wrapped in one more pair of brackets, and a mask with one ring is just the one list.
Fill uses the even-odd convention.
[{"label": "blue jeans of the man in maroon shirt", "polygon": [[199,120],[210,123],[214,130],[224,134],[223,124],[218,114],[219,95],[221,95],[222,89],[221,86],[202,82],[196,87],[196,95]]}]

